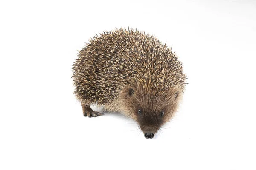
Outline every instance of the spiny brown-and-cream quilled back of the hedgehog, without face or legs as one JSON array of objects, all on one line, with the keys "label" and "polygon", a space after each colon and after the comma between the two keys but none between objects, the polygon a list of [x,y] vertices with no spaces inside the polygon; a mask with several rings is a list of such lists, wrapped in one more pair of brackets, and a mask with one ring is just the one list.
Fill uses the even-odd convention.
[{"label": "spiny brown-and-cream quilled back of the hedgehog, without face or legs", "polygon": [[154,36],[122,28],[91,39],[73,65],[74,93],[89,103],[105,104],[134,82],[157,90],[184,86],[185,78],[170,48]]}]

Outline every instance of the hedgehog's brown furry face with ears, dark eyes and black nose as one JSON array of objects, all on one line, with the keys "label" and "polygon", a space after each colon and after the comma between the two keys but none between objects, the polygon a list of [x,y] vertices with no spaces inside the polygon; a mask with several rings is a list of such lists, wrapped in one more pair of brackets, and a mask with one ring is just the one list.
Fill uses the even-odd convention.
[{"label": "hedgehog's brown furry face with ears, dark eyes and black nose", "polygon": [[178,108],[179,91],[145,93],[145,89],[129,88],[126,93],[125,111],[143,131],[145,138],[153,138],[164,123],[172,119]]}]

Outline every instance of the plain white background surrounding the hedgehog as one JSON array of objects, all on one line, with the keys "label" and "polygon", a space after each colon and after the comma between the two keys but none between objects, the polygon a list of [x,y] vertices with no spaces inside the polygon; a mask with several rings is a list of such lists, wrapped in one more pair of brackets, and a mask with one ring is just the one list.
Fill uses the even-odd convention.
[{"label": "plain white background surrounding the hedgehog", "polygon": [[[82,115],[77,50],[125,27],[173,47],[189,84],[154,139]],[[256,170],[256,1],[0,1],[1,170]],[[96,108],[96,111],[99,109]]]}]

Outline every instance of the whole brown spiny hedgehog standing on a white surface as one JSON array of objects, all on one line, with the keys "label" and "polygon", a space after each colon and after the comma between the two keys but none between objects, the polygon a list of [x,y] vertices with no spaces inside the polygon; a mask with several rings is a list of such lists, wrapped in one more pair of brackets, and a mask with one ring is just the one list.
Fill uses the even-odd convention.
[{"label": "whole brown spiny hedgehog standing on a white surface", "polygon": [[183,64],[172,48],[129,28],[96,34],[78,51],[72,71],[84,116],[103,115],[92,104],[123,113],[147,139],[173,118],[186,85]]}]

